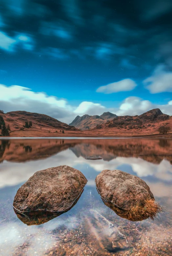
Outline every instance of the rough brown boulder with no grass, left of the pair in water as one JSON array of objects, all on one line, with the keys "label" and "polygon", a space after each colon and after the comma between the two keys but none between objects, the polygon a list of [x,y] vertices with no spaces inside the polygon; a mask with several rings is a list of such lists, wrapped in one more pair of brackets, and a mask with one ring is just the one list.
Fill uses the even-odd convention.
[{"label": "rough brown boulder with no grass, left of the pair in water", "polygon": [[16,211],[66,212],[83,191],[87,179],[78,170],[62,165],[36,172],[17,191]]}]

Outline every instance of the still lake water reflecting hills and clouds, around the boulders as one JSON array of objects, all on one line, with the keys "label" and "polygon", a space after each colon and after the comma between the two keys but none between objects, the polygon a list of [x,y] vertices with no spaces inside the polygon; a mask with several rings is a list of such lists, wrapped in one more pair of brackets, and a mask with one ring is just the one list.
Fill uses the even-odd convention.
[{"label": "still lake water reflecting hills and clouds, around the boulders", "polygon": [[[85,156],[101,160],[86,160]],[[36,171],[68,165],[88,182],[76,204],[40,225],[25,224],[12,204]],[[160,203],[157,218],[128,221],[99,196],[96,176],[119,169],[143,179]],[[42,218],[40,216],[40,218]],[[39,138],[0,140],[0,255],[172,255],[172,139]],[[113,230],[109,235],[109,230]],[[113,235],[112,235],[113,233]],[[123,242],[125,242],[125,246]],[[119,248],[113,251],[113,243]],[[127,243],[127,246],[126,246]]]}]

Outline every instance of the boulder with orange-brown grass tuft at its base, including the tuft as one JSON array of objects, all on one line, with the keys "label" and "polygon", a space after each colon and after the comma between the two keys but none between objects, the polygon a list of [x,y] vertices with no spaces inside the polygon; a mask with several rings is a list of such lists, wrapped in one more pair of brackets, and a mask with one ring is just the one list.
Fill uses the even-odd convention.
[{"label": "boulder with orange-brown grass tuft at its base, including the tuft", "polygon": [[141,221],[161,211],[148,185],[139,177],[120,170],[104,170],[96,177],[103,202],[122,218]]}]

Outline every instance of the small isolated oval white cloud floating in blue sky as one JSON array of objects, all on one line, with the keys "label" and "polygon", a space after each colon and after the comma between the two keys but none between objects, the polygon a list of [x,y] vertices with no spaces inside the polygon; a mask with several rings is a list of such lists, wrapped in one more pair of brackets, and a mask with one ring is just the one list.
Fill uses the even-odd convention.
[{"label": "small isolated oval white cloud floating in blue sky", "polygon": [[118,82],[110,83],[108,85],[100,86],[97,88],[97,92],[102,92],[105,94],[110,94],[114,92],[122,92],[122,91],[131,91],[133,90],[137,84],[132,79],[123,79]]}]

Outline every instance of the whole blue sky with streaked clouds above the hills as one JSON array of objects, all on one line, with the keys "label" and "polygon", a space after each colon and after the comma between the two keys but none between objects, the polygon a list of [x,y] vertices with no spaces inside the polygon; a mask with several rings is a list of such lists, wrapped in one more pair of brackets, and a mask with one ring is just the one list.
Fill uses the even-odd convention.
[{"label": "whole blue sky with streaked clouds above the hills", "polygon": [[0,109],[172,115],[171,0],[1,0]]}]

